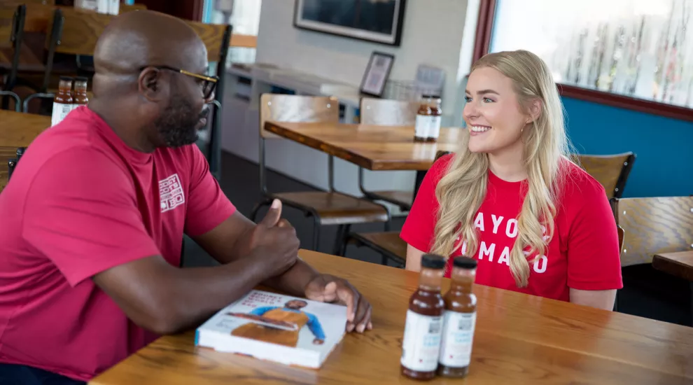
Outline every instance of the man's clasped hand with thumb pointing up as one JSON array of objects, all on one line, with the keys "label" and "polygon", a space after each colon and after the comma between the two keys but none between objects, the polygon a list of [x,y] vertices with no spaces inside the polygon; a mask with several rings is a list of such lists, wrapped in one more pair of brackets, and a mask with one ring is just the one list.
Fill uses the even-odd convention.
[{"label": "man's clasped hand with thumb pointing up", "polygon": [[281,219],[281,201],[274,200],[258,225],[238,240],[240,255],[253,255],[267,267],[267,277],[277,276],[290,269],[298,256],[300,241],[296,230]]}]

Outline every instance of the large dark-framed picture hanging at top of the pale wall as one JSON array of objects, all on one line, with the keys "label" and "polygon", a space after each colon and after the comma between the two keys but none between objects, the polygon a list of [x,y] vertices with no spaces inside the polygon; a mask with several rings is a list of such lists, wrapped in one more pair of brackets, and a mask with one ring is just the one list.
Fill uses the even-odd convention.
[{"label": "large dark-framed picture hanging at top of the pale wall", "polygon": [[400,45],[405,0],[295,0],[301,29]]}]

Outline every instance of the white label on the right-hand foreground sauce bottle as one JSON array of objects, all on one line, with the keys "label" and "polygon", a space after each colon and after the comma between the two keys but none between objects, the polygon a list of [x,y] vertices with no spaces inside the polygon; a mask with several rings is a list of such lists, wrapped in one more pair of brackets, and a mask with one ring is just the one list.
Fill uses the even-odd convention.
[{"label": "white label on the right-hand foreground sauce bottle", "polygon": [[448,367],[468,366],[472,359],[472,339],[477,321],[476,311],[445,311],[440,344],[440,363]]}]

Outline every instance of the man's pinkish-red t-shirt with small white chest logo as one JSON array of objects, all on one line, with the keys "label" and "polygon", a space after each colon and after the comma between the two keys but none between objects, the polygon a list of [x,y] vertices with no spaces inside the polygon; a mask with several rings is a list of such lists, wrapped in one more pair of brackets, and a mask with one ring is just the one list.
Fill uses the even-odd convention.
[{"label": "man's pinkish-red t-shirt with small white chest logo", "polygon": [[0,194],[0,362],[87,381],[152,342],[90,277],[158,254],[179,266],[183,232],[234,211],[197,146],[141,153],[72,111]]}]

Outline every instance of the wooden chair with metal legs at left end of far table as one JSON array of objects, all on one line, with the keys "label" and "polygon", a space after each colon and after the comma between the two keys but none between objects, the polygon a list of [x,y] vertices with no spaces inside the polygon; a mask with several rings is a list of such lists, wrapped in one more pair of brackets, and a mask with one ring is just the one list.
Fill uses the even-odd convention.
[{"label": "wooden chair with metal legs at left end of far table", "polygon": [[268,139],[280,139],[265,130],[265,122],[275,120],[291,123],[338,123],[339,101],[334,97],[309,97],[287,94],[262,94],[260,97],[260,192],[263,200],[251,214],[251,220],[261,207],[269,206],[272,200],[279,199],[287,207],[293,207],[310,216],[314,221],[312,249],[318,250],[320,228],[323,225],[337,225],[335,253],[349,234],[351,225],[357,223],[387,223],[390,219],[387,209],[381,204],[339,193],[335,190],[334,157],[328,156],[328,191],[306,191],[271,193],[267,190],[265,144]]}]

